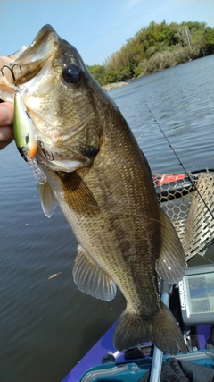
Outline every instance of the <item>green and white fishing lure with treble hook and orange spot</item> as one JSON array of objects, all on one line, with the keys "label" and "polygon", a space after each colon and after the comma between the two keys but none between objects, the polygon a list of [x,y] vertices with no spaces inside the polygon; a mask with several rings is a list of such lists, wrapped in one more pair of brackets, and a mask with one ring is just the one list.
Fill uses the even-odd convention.
[{"label": "green and white fishing lure with treble hook and orange spot", "polygon": [[29,116],[29,113],[24,105],[19,86],[16,83],[16,78],[14,75],[14,67],[19,66],[21,71],[20,64],[10,64],[10,66],[4,65],[1,68],[1,72],[4,75],[4,68],[7,68],[12,73],[12,79],[14,81],[14,119],[13,119],[13,131],[14,131],[14,140],[17,146],[17,149],[21,153],[21,157],[29,163],[29,166],[37,179],[37,183],[45,184],[46,176],[42,171],[41,167],[38,166],[37,158],[37,134],[35,127],[32,123],[32,120]]}]

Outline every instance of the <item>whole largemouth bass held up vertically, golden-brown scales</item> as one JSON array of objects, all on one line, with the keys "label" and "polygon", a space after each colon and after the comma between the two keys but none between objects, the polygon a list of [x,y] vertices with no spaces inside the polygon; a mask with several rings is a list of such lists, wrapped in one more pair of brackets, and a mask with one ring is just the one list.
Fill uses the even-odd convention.
[{"label": "whole largemouth bass held up vertically, golden-brown scales", "polygon": [[[184,276],[184,250],[128,123],[76,48],[51,26],[11,60],[21,65],[14,74],[47,179],[38,186],[42,208],[50,217],[58,203],[79,242],[75,283],[98,299],[113,299],[117,286],[124,294],[127,308],[113,339],[119,351],[152,341],[163,352],[186,352],[158,281],[176,284]],[[5,70],[0,98],[13,97]]]}]

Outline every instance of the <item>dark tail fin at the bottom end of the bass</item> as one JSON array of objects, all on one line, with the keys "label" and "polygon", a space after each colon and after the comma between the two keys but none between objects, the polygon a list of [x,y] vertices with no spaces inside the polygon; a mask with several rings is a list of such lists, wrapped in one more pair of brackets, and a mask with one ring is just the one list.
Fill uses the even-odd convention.
[{"label": "dark tail fin at the bottom end of the bass", "polygon": [[186,353],[186,346],[176,319],[161,301],[160,311],[151,319],[125,310],[119,317],[114,331],[114,346],[119,351],[127,350],[147,341],[162,352],[176,355],[179,350]]}]

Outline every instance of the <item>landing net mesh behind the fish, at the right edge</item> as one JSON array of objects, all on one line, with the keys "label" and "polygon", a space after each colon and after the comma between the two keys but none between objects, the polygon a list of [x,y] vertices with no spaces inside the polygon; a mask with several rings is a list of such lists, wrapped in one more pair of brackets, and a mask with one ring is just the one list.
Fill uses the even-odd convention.
[{"label": "landing net mesh behind the fish, at the right edge", "polygon": [[[173,183],[156,183],[161,207],[183,244],[186,259],[204,256],[214,238],[214,172],[189,174]],[[161,178],[161,175],[159,175]]]}]

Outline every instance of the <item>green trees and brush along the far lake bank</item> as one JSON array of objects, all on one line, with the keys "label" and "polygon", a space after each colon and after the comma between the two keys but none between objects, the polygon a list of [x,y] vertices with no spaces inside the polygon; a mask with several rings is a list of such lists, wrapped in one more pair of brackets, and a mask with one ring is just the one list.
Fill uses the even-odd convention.
[{"label": "green trees and brush along the far lake bank", "polygon": [[205,22],[152,21],[128,38],[103,65],[87,66],[100,85],[128,81],[170,66],[214,54],[214,28]]}]

